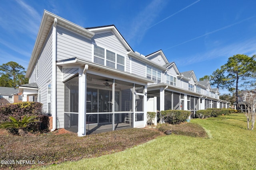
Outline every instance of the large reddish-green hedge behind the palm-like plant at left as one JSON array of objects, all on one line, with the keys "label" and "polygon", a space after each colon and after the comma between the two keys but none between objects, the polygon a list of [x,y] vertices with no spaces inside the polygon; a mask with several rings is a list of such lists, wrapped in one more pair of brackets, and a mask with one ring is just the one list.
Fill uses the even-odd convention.
[{"label": "large reddish-green hedge behind the palm-like plant at left", "polygon": [[[12,116],[17,120],[23,119],[27,116],[37,116],[38,122],[31,123],[26,127],[26,130],[30,132],[47,132],[49,126],[49,117],[42,115],[42,104],[39,102],[20,102],[14,104],[6,104],[0,106],[0,123],[8,121]],[[15,131],[15,130],[11,130]]]}]

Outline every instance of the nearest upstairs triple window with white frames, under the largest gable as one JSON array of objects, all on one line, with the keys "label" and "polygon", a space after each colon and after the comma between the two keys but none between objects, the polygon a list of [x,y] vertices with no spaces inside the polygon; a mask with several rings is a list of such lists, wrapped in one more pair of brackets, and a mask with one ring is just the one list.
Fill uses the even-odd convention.
[{"label": "nearest upstairs triple window with white frames, under the largest gable", "polygon": [[124,71],[124,56],[94,45],[94,63]]}]

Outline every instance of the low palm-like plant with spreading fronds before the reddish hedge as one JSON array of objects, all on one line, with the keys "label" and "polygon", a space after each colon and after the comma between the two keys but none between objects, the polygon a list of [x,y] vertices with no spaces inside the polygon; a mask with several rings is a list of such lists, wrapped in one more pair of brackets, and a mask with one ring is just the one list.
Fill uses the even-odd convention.
[{"label": "low palm-like plant with spreading fronds before the reddish hedge", "polygon": [[15,128],[18,129],[18,133],[23,136],[25,134],[24,128],[27,127],[28,124],[32,122],[38,121],[36,119],[37,116],[28,116],[25,115],[22,120],[17,120],[14,117],[10,116],[9,119],[11,121],[6,121],[0,125],[0,128]]}]

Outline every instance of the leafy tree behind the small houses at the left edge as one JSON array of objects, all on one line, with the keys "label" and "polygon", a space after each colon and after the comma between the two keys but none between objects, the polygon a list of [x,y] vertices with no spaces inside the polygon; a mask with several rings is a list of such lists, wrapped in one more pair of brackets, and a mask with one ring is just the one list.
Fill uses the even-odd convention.
[{"label": "leafy tree behind the small houses at the left edge", "polygon": [[20,84],[28,83],[28,78],[24,75],[25,68],[14,61],[0,65],[0,71],[0,86],[18,87]]}]

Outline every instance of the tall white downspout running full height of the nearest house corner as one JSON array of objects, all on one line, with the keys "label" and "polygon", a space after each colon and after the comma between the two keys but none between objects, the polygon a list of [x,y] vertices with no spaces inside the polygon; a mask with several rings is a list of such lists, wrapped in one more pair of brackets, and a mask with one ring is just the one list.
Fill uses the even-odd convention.
[{"label": "tall white downspout running full height of the nearest house corner", "polygon": [[56,128],[56,115],[57,115],[57,110],[56,110],[56,39],[57,39],[57,32],[56,32],[56,27],[57,27],[57,18],[54,18],[54,23],[52,27],[52,129],[51,131],[55,131]]}]

